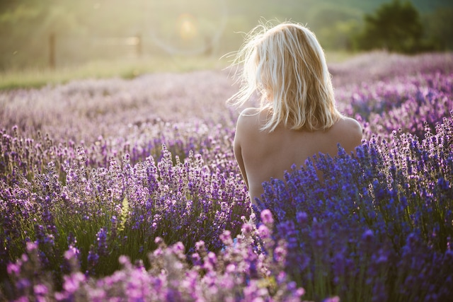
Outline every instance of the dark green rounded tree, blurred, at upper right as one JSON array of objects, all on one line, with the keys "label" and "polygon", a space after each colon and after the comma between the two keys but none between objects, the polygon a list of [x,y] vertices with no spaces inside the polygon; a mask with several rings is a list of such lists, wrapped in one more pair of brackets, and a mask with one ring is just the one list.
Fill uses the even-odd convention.
[{"label": "dark green rounded tree, blurred, at upper right", "polygon": [[417,9],[409,1],[394,0],[365,15],[364,29],[355,43],[361,50],[414,53],[426,50],[422,37],[423,25]]}]

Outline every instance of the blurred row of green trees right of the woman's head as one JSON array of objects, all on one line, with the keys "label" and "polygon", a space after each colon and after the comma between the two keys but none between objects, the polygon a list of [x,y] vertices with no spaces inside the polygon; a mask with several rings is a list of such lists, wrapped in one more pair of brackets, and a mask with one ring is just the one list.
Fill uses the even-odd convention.
[{"label": "blurred row of green trees right of the woman's head", "polygon": [[422,15],[411,1],[390,0],[360,18],[348,8],[325,8],[318,15],[325,17],[309,25],[328,50],[406,54],[453,50],[452,6]]}]

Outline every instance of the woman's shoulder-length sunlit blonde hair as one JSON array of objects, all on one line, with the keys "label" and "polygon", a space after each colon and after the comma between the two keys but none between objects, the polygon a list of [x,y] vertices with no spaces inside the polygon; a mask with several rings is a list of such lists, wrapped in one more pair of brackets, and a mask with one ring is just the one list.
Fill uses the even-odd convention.
[{"label": "woman's shoulder-length sunlit blonde hair", "polygon": [[263,131],[272,132],[279,124],[289,129],[328,129],[341,114],[321,45],[299,23],[269,25],[253,28],[236,53],[233,65],[243,64],[243,69],[239,91],[229,102],[241,106],[258,92],[260,112],[270,113]]}]

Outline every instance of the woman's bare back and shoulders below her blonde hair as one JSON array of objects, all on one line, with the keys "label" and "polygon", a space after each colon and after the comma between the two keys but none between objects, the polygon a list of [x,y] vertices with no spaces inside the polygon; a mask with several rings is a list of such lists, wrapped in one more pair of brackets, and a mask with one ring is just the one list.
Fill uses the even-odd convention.
[{"label": "woman's bare back and shoulders below her blonde hair", "polygon": [[313,132],[280,126],[273,132],[262,132],[265,119],[265,113],[248,108],[243,110],[236,125],[234,154],[252,202],[263,193],[263,182],[282,179],[285,170],[293,164],[301,166],[319,152],[336,156],[338,144],[350,153],[362,141],[360,124],[348,117],[341,118],[326,131]]}]

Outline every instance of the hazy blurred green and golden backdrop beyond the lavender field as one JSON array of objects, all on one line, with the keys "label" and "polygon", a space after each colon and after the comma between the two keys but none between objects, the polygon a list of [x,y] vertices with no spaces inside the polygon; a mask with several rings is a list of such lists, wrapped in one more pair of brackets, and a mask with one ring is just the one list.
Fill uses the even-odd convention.
[{"label": "hazy blurred green and golden backdrop beyond the lavender field", "polygon": [[453,49],[451,0],[0,0],[0,73],[219,64],[261,18],[304,23],[331,53]]}]

